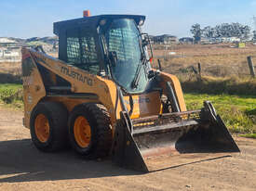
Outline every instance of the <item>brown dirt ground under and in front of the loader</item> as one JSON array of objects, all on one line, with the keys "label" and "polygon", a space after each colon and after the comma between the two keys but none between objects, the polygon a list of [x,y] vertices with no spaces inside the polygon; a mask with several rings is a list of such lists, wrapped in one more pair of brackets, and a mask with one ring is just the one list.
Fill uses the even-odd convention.
[{"label": "brown dirt ground under and in front of the loader", "polygon": [[0,108],[0,190],[256,190],[256,140],[236,137],[233,157],[141,174],[71,149],[42,153],[21,121],[21,111]]}]

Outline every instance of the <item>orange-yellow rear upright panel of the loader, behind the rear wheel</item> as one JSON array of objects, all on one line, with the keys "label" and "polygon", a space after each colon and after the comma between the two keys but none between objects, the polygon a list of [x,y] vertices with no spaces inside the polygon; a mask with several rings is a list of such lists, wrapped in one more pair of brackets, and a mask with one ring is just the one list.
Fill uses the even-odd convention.
[{"label": "orange-yellow rear upright panel of the loader, behind the rear wheel", "polygon": [[30,128],[30,115],[38,101],[46,96],[41,75],[30,52],[22,48],[22,81],[24,100],[24,126]]}]

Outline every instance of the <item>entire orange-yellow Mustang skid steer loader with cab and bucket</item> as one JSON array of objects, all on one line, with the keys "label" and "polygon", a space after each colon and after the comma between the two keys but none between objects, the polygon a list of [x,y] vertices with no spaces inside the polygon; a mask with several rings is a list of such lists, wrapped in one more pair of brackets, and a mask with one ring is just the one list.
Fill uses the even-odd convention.
[{"label": "entire orange-yellow Mustang skid steer loader with cab and bucket", "polygon": [[100,15],[56,22],[59,58],[22,48],[23,123],[38,149],[69,143],[87,159],[111,156],[142,172],[239,152],[208,101],[187,111],[178,79],[151,68],[144,20]]}]

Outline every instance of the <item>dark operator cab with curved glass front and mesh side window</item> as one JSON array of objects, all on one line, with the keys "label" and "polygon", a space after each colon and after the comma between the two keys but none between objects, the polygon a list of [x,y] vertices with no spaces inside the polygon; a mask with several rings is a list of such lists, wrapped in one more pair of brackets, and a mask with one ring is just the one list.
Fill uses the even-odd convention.
[{"label": "dark operator cab with curved glass front and mesh side window", "polygon": [[150,70],[149,40],[140,30],[144,19],[101,15],[56,22],[59,58],[91,74],[111,78],[129,93],[144,92]]}]

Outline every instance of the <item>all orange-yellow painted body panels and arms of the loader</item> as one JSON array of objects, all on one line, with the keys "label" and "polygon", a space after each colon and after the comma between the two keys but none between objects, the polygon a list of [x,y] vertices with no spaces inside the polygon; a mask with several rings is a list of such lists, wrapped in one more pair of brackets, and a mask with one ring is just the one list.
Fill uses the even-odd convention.
[{"label": "all orange-yellow painted body panels and arms of the loader", "polygon": [[[81,70],[72,65],[56,59],[54,57],[49,57],[43,53],[36,52],[34,50],[28,50],[26,48],[22,49],[23,54],[29,54],[33,57],[33,63],[45,67],[50,72],[50,78],[53,83],[56,83],[56,75],[61,76],[62,79],[65,79],[71,84],[72,93],[87,93],[96,95],[94,98],[73,98],[69,96],[47,96],[44,83],[42,81],[39,70],[34,67],[32,75],[26,77],[26,79],[34,79],[33,84],[28,83],[24,78],[24,103],[25,103],[25,122],[24,125],[29,128],[29,116],[33,108],[40,100],[45,101],[56,101],[61,102],[69,110],[82,103],[101,103],[104,105],[111,116],[112,124],[115,123],[116,119],[119,119],[119,113],[122,110],[120,100],[117,100],[117,87],[112,80],[103,78],[98,75],[90,74],[86,70]],[[178,79],[170,74],[161,73],[161,77],[165,82],[170,82],[173,85],[174,91],[179,102],[179,106],[182,111],[186,110],[183,96],[182,88]],[[36,81],[35,81],[36,79]],[[163,86],[165,94],[165,83],[161,83]],[[36,88],[35,88],[36,87]],[[29,96],[34,97],[33,100],[29,100]],[[36,98],[35,98],[36,97]],[[131,114],[131,119],[141,118],[151,115],[158,115],[162,113],[162,103],[160,100],[160,93],[158,91],[133,95],[133,112]],[[129,97],[124,96],[125,105],[130,109],[129,106]],[[115,127],[115,125],[113,125]]]}]

